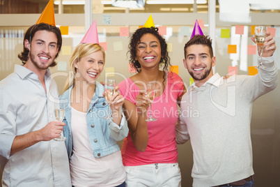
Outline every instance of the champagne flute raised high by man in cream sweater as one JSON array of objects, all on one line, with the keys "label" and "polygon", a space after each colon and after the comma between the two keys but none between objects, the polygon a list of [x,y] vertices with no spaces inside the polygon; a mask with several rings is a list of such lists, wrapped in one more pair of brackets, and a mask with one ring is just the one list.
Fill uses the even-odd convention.
[{"label": "champagne flute raised high by man in cream sweater", "polygon": [[265,47],[265,35],[266,35],[266,27],[264,25],[255,27],[255,41],[258,47],[258,54],[260,55],[260,64],[257,68],[266,67],[263,66],[263,48]]}]

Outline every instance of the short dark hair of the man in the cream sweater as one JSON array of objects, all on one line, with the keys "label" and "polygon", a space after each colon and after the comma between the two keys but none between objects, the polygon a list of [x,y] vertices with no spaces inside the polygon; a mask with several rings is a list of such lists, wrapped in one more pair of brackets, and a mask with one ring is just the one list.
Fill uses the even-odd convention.
[{"label": "short dark hair of the man in the cream sweater", "polygon": [[194,38],[190,39],[184,47],[185,58],[187,55],[187,47],[189,47],[190,45],[206,45],[209,47],[210,57],[212,58],[214,56],[212,49],[212,39],[210,38],[210,36],[195,35]]}]

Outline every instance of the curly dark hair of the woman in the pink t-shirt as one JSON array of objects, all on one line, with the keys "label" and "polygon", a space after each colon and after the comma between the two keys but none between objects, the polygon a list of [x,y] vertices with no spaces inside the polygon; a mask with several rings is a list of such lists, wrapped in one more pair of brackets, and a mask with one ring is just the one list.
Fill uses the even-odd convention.
[{"label": "curly dark hair of the woman in the pink t-shirt", "polygon": [[132,38],[130,39],[129,51],[127,52],[130,53],[130,63],[134,66],[138,73],[141,72],[141,65],[139,61],[135,59],[137,57],[137,45],[140,43],[141,37],[146,33],[151,33],[160,40],[160,47],[162,48],[162,58],[160,59],[160,63],[164,64],[163,70],[164,72],[167,72],[169,66],[171,66],[170,58],[167,52],[167,44],[165,39],[160,36],[160,33],[158,33],[158,29],[155,27],[142,27],[133,33]]}]

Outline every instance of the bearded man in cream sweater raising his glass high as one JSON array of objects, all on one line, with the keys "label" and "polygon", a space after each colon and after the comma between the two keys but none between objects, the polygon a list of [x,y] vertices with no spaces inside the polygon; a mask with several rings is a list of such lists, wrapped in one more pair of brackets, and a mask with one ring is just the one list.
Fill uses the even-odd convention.
[{"label": "bearded man in cream sweater raising his glass high", "polygon": [[[194,83],[182,97],[176,140],[184,143],[190,137],[193,186],[254,186],[251,107],[277,87],[275,50],[275,40],[267,33],[262,59],[267,68],[254,76],[233,75],[224,80],[218,73],[213,75],[216,59],[208,36],[196,35],[185,45],[183,62]],[[189,110],[199,114],[187,115]]]}]

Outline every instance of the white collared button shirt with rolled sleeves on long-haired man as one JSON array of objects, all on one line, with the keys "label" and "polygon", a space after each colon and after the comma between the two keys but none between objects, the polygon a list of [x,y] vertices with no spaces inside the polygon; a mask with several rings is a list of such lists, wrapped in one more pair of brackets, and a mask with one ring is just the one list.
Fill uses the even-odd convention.
[{"label": "white collared button shirt with rolled sleeves on long-haired man", "polygon": [[38,142],[10,155],[15,136],[56,121],[59,93],[49,70],[45,85],[47,93],[36,73],[19,65],[0,82],[0,155],[8,158],[2,186],[71,186],[64,142]]}]

